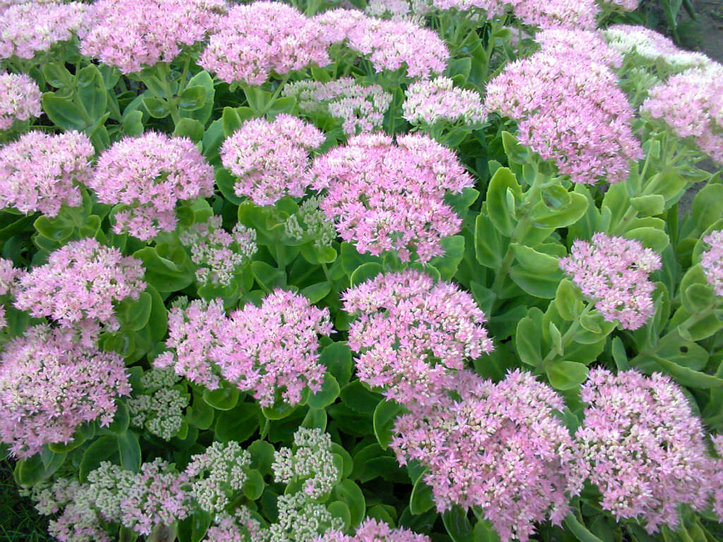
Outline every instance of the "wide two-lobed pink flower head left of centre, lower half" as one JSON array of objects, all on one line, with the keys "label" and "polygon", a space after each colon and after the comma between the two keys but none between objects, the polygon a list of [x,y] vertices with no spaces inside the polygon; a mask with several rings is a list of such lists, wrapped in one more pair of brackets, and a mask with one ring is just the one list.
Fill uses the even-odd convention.
[{"label": "wide two-lobed pink flower head left of centre, lower half", "polygon": [[191,382],[218,388],[219,374],[262,406],[282,399],[301,401],[305,389],[317,392],[324,379],[317,335],[332,331],[328,309],[307,298],[276,290],[260,307],[248,304],[226,317],[221,301],[193,301],[168,316],[168,348],[155,366],[174,367]]}]

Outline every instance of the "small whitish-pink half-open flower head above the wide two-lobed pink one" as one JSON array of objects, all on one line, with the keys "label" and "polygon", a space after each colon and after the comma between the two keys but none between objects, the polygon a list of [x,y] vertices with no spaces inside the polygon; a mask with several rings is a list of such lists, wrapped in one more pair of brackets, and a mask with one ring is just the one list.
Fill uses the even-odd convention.
[{"label": "small whitish-pink half-open flower head above the wide two-lobed pink one", "polygon": [[179,234],[198,266],[196,280],[205,285],[228,286],[256,254],[256,231],[236,223],[231,233],[221,226],[218,215],[196,223]]}]

